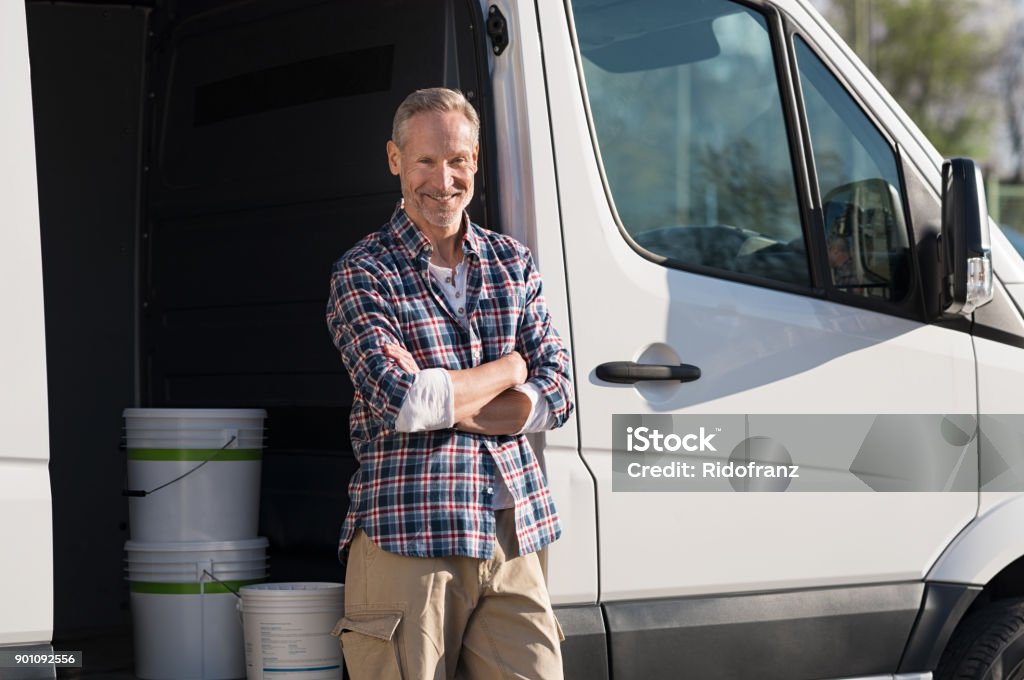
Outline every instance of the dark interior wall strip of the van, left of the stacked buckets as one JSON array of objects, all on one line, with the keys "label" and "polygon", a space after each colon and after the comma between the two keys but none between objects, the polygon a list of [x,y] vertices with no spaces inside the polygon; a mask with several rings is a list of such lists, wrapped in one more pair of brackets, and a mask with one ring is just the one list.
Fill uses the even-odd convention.
[{"label": "dark interior wall strip of the van, left of the stacked buckets", "polygon": [[27,6],[43,247],[54,628],[127,621],[121,410],[136,400],[146,11]]}]

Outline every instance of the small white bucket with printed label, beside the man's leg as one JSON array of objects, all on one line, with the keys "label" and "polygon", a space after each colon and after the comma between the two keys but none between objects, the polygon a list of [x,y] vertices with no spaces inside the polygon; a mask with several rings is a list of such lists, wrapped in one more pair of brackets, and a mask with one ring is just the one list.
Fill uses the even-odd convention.
[{"label": "small white bucket with printed label, beside the man's leg", "polygon": [[342,584],[260,584],[241,593],[248,680],[340,680],[331,631],[345,608]]}]

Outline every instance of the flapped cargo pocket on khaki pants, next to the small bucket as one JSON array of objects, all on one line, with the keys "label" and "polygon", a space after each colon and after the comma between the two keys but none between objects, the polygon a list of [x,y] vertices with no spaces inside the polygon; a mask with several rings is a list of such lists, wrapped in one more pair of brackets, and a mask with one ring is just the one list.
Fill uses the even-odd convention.
[{"label": "flapped cargo pocket on khaki pants, next to the small bucket", "polygon": [[353,611],[338,621],[331,634],[341,641],[352,680],[402,680],[399,623],[400,611]]}]

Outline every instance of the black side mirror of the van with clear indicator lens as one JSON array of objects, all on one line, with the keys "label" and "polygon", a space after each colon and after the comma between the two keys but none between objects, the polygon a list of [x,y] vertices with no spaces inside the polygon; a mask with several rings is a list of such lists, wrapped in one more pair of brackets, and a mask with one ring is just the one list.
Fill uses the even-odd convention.
[{"label": "black side mirror of the van with clear indicator lens", "polygon": [[992,299],[988,205],[978,165],[966,158],[942,164],[942,309],[968,315]]}]

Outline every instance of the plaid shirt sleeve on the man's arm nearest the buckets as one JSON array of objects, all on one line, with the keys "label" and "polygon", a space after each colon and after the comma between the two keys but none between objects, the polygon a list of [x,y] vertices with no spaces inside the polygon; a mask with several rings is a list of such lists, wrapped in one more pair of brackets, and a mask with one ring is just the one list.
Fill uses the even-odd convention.
[{"label": "plaid shirt sleeve on the man's arm nearest the buckets", "polygon": [[383,352],[402,344],[401,331],[384,278],[367,264],[339,260],[331,277],[327,325],[353,387],[385,428],[395,421],[415,375]]}]

